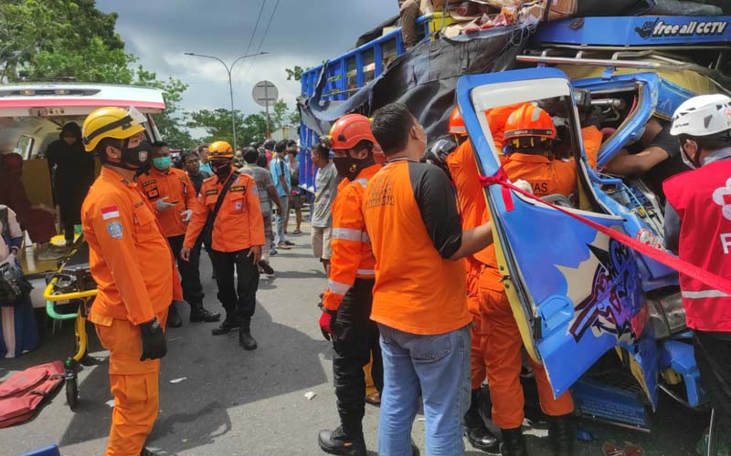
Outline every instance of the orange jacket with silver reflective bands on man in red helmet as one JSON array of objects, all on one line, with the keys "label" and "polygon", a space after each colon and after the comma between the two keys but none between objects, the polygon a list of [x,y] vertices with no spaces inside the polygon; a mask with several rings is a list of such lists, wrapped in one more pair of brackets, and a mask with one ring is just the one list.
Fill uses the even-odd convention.
[{"label": "orange jacket with silver reflective bands on man in red helmet", "polygon": [[376,276],[370,239],[365,232],[363,194],[365,185],[381,169],[372,165],[358,172],[355,180],[344,179],[337,187],[333,202],[333,235],[330,258],[330,277],[323,295],[323,306],[337,310],[344,295],[355,284],[355,278],[372,279]]}]

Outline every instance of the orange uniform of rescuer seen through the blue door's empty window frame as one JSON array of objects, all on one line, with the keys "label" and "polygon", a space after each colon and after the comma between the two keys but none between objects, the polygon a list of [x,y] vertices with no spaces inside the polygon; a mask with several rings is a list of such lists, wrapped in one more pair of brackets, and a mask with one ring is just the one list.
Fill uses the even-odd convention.
[{"label": "orange uniform of rescuer seen through the blue door's empty window frame", "polygon": [[[595,127],[582,130],[587,160],[597,166],[601,132]],[[573,160],[549,160],[543,156],[513,153],[503,163],[511,181],[523,179],[531,183],[536,196],[560,193],[565,196],[577,191],[577,166]],[[490,397],[493,401],[493,421],[502,429],[514,429],[523,423],[524,396],[520,384],[522,367],[521,340],[513,310],[510,307],[498,270],[497,260],[486,265],[479,280],[482,312],[483,348],[487,363]],[[554,399],[543,365],[530,359],[541,409],[549,416],[571,413],[574,401],[567,392]]]}]

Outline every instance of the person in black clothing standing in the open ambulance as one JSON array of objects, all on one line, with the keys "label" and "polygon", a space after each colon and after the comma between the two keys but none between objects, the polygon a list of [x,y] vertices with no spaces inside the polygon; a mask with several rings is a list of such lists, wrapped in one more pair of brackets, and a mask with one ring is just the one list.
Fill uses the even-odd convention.
[{"label": "person in black clothing standing in the open ambulance", "polygon": [[58,140],[48,144],[46,160],[53,175],[64,238],[70,246],[74,225],[81,223],[81,203],[94,181],[94,158],[84,151],[78,123],[69,122],[61,128]]}]

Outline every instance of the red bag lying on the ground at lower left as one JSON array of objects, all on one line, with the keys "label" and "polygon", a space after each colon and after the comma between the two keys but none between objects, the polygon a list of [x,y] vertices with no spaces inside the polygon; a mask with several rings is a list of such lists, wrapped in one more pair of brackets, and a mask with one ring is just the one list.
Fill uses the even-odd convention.
[{"label": "red bag lying on the ground at lower left", "polygon": [[43,399],[63,382],[61,361],[26,368],[0,383],[0,428],[33,418]]}]

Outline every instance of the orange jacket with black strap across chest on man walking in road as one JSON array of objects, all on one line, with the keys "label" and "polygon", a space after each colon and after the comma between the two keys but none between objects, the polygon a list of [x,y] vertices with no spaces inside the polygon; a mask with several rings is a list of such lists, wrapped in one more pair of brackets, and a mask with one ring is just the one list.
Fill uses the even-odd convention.
[{"label": "orange jacket with black strap across chest on man walking in road", "polygon": [[[234,171],[231,170],[231,173]],[[229,174],[230,176],[230,174]],[[216,208],[218,194],[224,181],[217,176],[203,181],[193,210],[193,217],[185,232],[185,247],[193,247],[203,231],[208,212]],[[252,245],[264,245],[264,218],[261,216],[257,182],[248,174],[238,174],[224,197],[213,223],[212,247],[217,252],[238,252]]]}]

